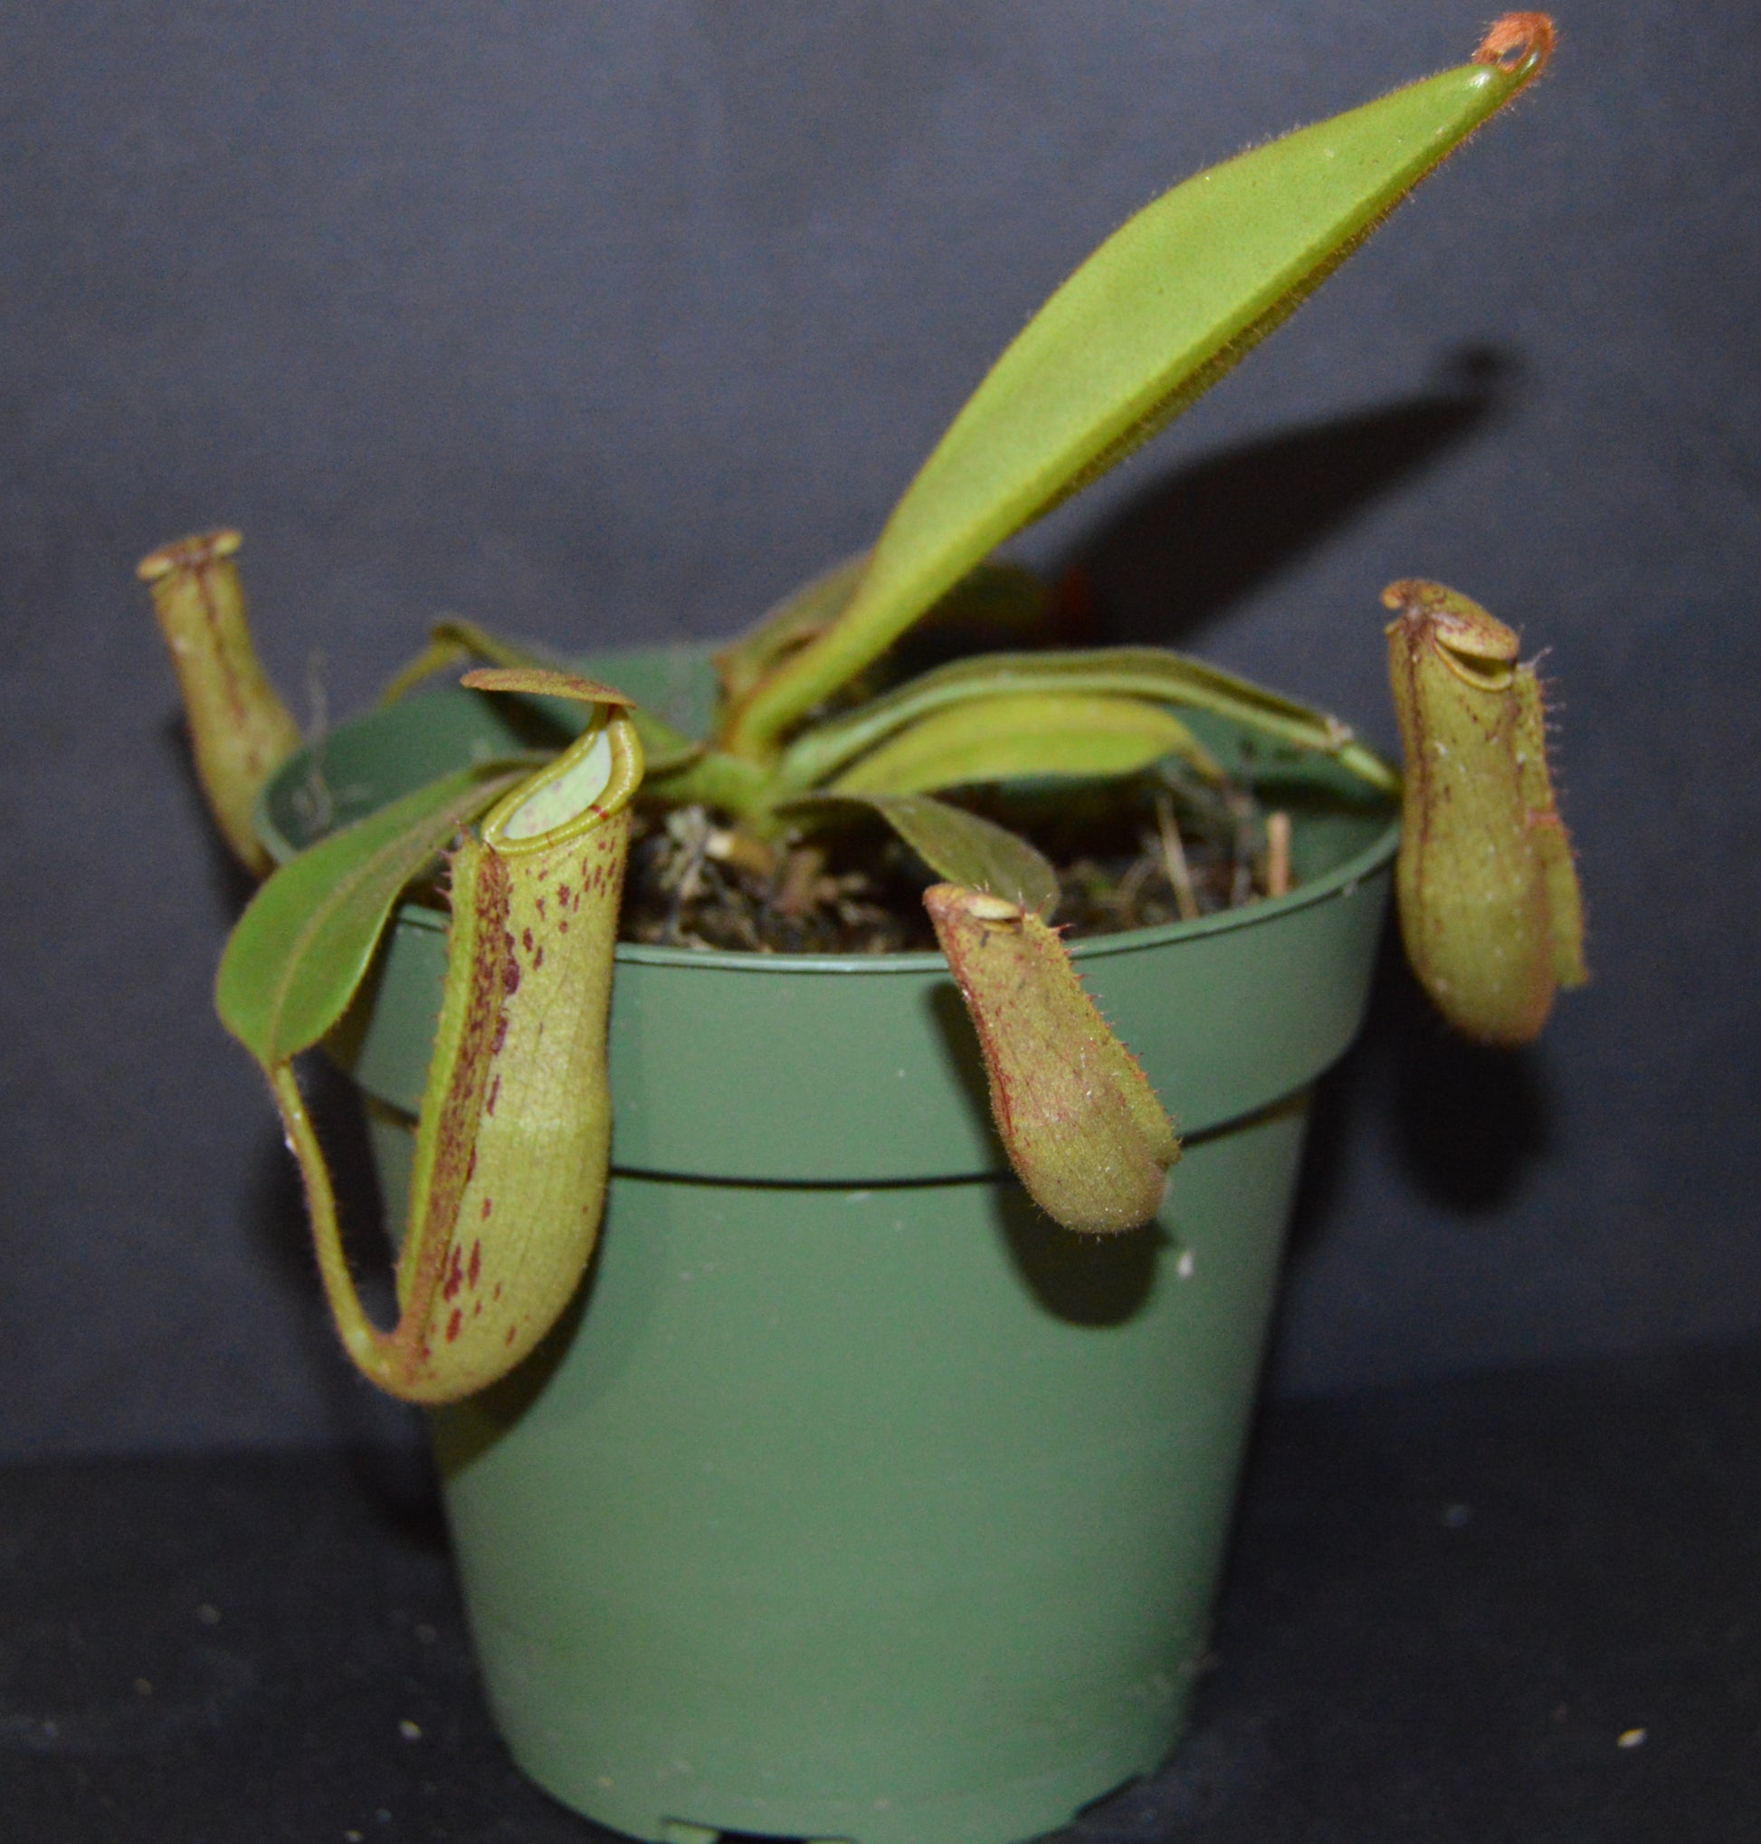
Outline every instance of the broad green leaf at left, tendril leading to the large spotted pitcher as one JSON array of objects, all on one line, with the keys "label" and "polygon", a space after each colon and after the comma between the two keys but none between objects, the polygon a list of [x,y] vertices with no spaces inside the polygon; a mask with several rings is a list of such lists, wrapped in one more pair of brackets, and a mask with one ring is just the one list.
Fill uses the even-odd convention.
[{"label": "broad green leaf at left, tendril leading to the large spotted pitcher", "polygon": [[349,1009],[404,885],[529,765],[455,769],[282,865],[232,929],[214,1003],[266,1068],[310,1049]]}]

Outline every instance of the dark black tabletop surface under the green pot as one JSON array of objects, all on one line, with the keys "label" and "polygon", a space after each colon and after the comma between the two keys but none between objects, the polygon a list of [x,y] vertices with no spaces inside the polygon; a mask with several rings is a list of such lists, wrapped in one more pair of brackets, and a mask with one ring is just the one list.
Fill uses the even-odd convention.
[{"label": "dark black tabletop surface under the green pot", "polygon": [[[0,1472],[0,1837],[566,1844],[400,1455]],[[1761,1344],[1274,1403],[1191,1732],[1064,1837],[1761,1838]]]}]

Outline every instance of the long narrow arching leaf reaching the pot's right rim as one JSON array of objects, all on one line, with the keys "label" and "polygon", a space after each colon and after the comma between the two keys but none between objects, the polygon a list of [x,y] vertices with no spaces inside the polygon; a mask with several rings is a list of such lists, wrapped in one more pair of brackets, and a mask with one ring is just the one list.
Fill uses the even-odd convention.
[{"label": "long narrow arching leaf reaching the pot's right rim", "polygon": [[1337,717],[1267,692],[1250,679],[1237,679],[1221,666],[1160,647],[990,653],[942,666],[845,717],[804,730],[784,752],[776,778],[786,787],[811,787],[929,712],[1020,692],[1110,692],[1210,710],[1298,749],[1337,756],[1377,787],[1392,791],[1400,786],[1394,771],[1353,743],[1350,728]]}]

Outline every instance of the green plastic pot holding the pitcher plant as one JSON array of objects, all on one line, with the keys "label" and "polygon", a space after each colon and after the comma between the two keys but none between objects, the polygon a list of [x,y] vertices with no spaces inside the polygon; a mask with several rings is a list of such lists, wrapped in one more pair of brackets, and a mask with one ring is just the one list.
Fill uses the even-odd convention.
[{"label": "green plastic pot holding the pitcher plant", "polygon": [[[690,655],[588,666],[684,719],[704,695]],[[457,692],[361,719],[282,771],[266,837],[507,721]],[[1009,1175],[939,957],[618,950],[594,1269],[514,1377],[433,1416],[489,1696],[551,1794],[671,1844],[1005,1844],[1164,1759],[1396,845],[1328,763],[1259,769],[1291,896],[1077,948],[1186,1136],[1130,1235],[1070,1235]],[[334,1046],[391,1199],[443,966],[406,907]]]}]

